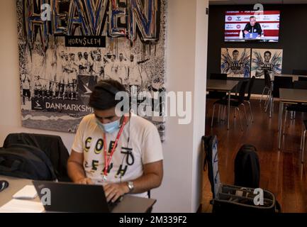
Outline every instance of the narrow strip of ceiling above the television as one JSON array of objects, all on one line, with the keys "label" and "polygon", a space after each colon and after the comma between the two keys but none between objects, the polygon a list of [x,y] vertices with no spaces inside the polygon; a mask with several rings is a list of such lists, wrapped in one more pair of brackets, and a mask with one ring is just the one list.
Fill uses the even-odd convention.
[{"label": "narrow strip of ceiling above the television", "polygon": [[210,0],[210,5],[307,4],[307,0]]}]

